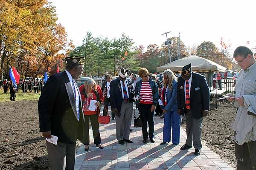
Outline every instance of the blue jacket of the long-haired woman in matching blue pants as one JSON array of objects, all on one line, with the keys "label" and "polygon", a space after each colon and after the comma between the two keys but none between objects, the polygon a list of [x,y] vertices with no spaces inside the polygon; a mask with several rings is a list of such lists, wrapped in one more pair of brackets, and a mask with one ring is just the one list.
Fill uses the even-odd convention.
[{"label": "blue jacket of the long-haired woman in matching blue pants", "polygon": [[161,106],[161,108],[165,109],[167,112],[177,111],[178,105],[177,105],[177,81],[176,80],[173,81],[172,91],[169,88],[167,89],[166,99],[167,99],[167,105]]}]

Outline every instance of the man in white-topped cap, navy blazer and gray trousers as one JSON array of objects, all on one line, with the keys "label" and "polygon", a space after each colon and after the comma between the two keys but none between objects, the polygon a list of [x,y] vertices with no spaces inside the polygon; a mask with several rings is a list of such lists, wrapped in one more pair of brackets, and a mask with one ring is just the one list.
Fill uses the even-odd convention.
[{"label": "man in white-topped cap, navy blazer and gray trousers", "polygon": [[133,83],[126,78],[124,68],[119,71],[119,77],[110,83],[110,100],[113,113],[116,115],[116,139],[119,144],[133,143],[129,139],[131,118],[134,102]]}]

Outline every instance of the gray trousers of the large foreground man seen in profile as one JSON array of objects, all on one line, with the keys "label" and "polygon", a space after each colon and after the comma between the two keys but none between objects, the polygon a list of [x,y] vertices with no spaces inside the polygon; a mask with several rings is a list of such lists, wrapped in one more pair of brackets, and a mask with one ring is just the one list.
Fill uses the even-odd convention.
[{"label": "gray trousers of the large foreground man seen in profile", "polygon": [[74,170],[76,159],[76,143],[57,145],[46,142],[51,170]]}]

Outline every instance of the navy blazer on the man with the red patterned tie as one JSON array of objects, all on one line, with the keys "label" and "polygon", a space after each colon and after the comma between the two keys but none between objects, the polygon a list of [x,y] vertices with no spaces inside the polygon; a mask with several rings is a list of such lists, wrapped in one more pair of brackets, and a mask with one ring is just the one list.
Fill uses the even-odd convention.
[{"label": "navy blazer on the man with the red patterned tie", "polygon": [[[185,108],[185,92],[184,79],[178,78],[177,84],[177,104],[178,109],[184,113]],[[203,117],[202,111],[209,111],[210,92],[206,79],[201,74],[192,72],[192,81],[190,86],[190,109],[195,119]]]}]

